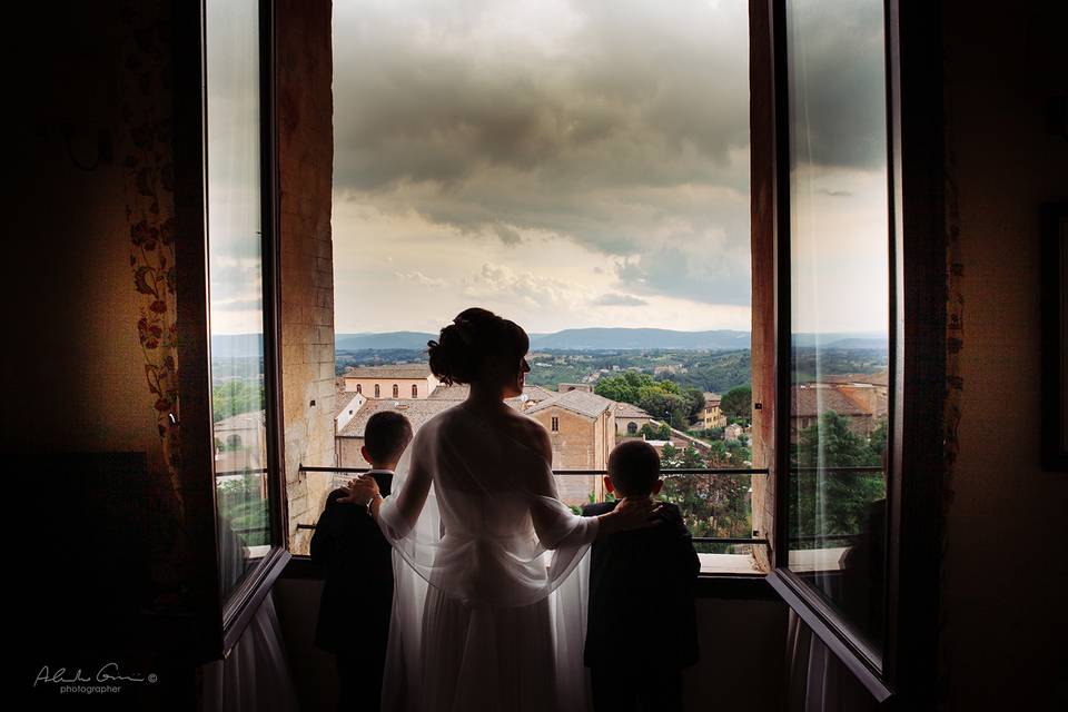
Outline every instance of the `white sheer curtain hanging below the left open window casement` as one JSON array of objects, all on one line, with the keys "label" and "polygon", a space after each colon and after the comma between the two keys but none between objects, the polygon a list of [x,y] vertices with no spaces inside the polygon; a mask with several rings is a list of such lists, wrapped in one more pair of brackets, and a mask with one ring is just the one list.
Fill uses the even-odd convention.
[{"label": "white sheer curtain hanging below the left open window casement", "polygon": [[267,594],[230,654],[201,668],[201,712],[295,712],[274,592]]}]

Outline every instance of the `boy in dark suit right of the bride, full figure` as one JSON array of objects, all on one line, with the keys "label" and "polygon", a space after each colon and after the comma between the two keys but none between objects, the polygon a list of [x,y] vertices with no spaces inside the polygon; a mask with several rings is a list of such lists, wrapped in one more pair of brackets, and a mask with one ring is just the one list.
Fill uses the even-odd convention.
[{"label": "boy in dark suit right of the bride, full figure", "polygon": [[[604,486],[619,498],[660,493],[660,456],[627,441],[609,456]],[[583,514],[611,511],[589,504]],[[593,545],[585,664],[597,712],[682,710],[682,670],[698,661],[693,593],[700,563],[679,507],[664,503],[656,526]]]}]

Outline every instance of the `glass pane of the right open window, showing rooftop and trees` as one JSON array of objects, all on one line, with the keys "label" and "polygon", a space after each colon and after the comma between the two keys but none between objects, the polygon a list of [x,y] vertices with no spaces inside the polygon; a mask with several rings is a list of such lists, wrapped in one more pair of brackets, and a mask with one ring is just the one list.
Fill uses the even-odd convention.
[{"label": "glass pane of the right open window, showing rooftop and trees", "polygon": [[789,566],[874,650],[890,367],[883,29],[878,0],[787,3]]}]

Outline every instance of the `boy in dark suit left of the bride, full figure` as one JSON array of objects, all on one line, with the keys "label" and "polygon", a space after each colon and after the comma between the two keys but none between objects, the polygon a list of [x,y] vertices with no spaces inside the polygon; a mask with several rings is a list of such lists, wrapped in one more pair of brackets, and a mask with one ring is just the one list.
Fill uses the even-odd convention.
[{"label": "boy in dark suit left of the bride, full figure", "polygon": [[[394,411],[375,413],[360,454],[367,474],[389,494],[394,469],[412,442],[412,425]],[[312,560],[325,570],[315,644],[334,653],[339,710],[378,710],[393,605],[393,552],[367,508],[335,490],[312,536]],[[353,612],[358,611],[358,615]]]}]

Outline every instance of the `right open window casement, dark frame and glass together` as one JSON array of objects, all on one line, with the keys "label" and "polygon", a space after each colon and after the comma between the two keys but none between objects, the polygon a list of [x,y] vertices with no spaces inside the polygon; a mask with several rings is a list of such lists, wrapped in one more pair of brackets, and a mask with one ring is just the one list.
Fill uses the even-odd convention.
[{"label": "right open window casement, dark frame and glass together", "polygon": [[[945,251],[937,43],[919,29],[937,18],[912,10],[902,38],[893,0],[752,8],[769,582],[874,701],[906,700],[937,630]],[[887,355],[877,377],[827,375],[846,330]]]}]

